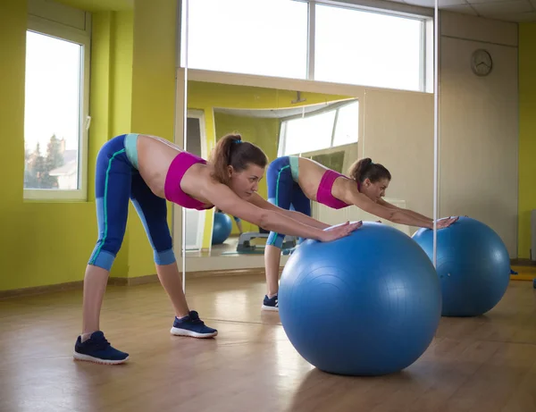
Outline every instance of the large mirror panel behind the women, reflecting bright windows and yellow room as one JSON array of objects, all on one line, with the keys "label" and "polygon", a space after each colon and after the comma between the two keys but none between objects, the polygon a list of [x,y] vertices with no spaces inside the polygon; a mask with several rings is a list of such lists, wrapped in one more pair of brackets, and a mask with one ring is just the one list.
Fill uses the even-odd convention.
[{"label": "large mirror panel behind the women, reflecting bright windows and yellow room", "polygon": [[[239,11],[249,16],[245,12],[245,4],[249,2],[240,7],[238,1],[228,2],[222,9],[213,7],[211,10],[217,13],[214,12],[210,21],[206,20],[205,14],[197,13],[199,8],[204,7],[203,2],[189,3],[192,6],[189,15],[196,14],[197,20],[192,19],[188,31],[190,38],[195,39],[189,45],[196,45],[188,49],[188,62],[191,63],[188,67],[192,69],[188,71],[187,84],[188,151],[208,158],[218,139],[227,133],[237,132],[244,140],[261,147],[270,162],[278,156],[305,156],[337,172],[346,173],[356,159],[371,157],[373,162],[384,164],[393,176],[385,198],[389,203],[432,215],[434,100],[430,93],[431,72],[421,67],[421,58],[413,60],[415,67],[408,63],[407,67],[399,66],[396,71],[390,71],[389,64],[381,63],[381,59],[389,54],[374,53],[385,45],[358,49],[358,45],[351,42],[352,38],[359,38],[353,31],[345,31],[344,36],[339,34],[337,38],[328,36],[339,28],[342,15],[339,13],[344,12],[342,8],[310,4],[316,7],[317,17],[323,16],[320,20],[323,23],[316,25],[318,36],[315,41],[320,41],[320,38],[325,41],[314,45],[317,48],[312,55],[314,59],[306,68],[297,67],[293,64],[294,58],[302,64],[310,58],[306,53],[307,43],[288,34],[276,40],[279,30],[266,30],[265,37],[255,38],[255,47],[246,47],[243,41],[246,22],[231,27],[226,25],[220,29],[221,37],[205,36],[207,26],[214,27],[214,30],[220,28],[218,24],[225,20],[222,18],[225,13],[231,13],[232,4],[237,7],[232,9],[236,21],[239,21]],[[297,13],[296,16],[292,14],[294,17],[290,20],[293,24],[286,29],[297,27],[298,20],[303,23],[301,31],[298,31],[306,29],[308,17],[303,13],[306,4],[283,1],[280,6],[292,7],[292,13]],[[298,10],[299,7],[304,9]],[[280,17],[281,14],[291,15],[290,9],[285,10],[288,13],[280,12]],[[266,13],[269,11],[266,10]],[[199,17],[201,15],[203,20]],[[366,27],[367,33],[380,28],[381,24],[388,24],[374,20],[381,19],[381,14],[365,15],[362,11],[352,11],[344,12],[344,15],[354,22],[348,24],[348,28]],[[297,16],[302,17],[298,19]],[[260,24],[252,22],[251,16],[242,19],[240,21],[247,21],[247,24]],[[398,36],[396,43],[389,40],[389,44],[394,45],[389,56],[392,57],[393,53],[422,56],[423,47],[430,46],[423,45],[422,41],[424,31],[429,30],[430,25],[410,20],[400,21],[400,24],[406,28],[402,30],[406,38]],[[378,30],[381,33],[385,31]],[[399,34],[402,31],[398,30]],[[285,30],[281,32],[287,33]],[[348,45],[343,39],[348,40]],[[404,47],[405,43],[410,46]],[[288,53],[282,53],[281,50],[288,44]],[[331,47],[333,44],[340,48]],[[247,51],[241,47],[246,47]],[[338,52],[344,47],[352,47],[356,53]],[[406,62],[404,59],[399,61]],[[269,63],[271,69],[265,72]],[[417,70],[418,67],[423,70]],[[314,77],[308,77],[313,72]],[[354,83],[348,84],[351,82]],[[266,173],[258,192],[263,198],[268,198]],[[346,220],[378,220],[357,207],[336,210],[317,202],[311,202],[311,214],[328,224]],[[215,235],[220,233],[214,230],[219,231],[216,226],[221,223],[222,240],[217,240]],[[382,223],[396,226],[408,235],[416,230],[406,225]],[[230,215],[215,214],[214,209],[187,210],[185,228],[188,276],[237,271],[254,271],[264,276],[264,247],[268,233],[262,228],[244,221],[237,222]],[[283,249],[291,249],[295,241],[285,239]],[[282,253],[280,267],[285,265],[289,256],[285,255],[285,251]]]}]

